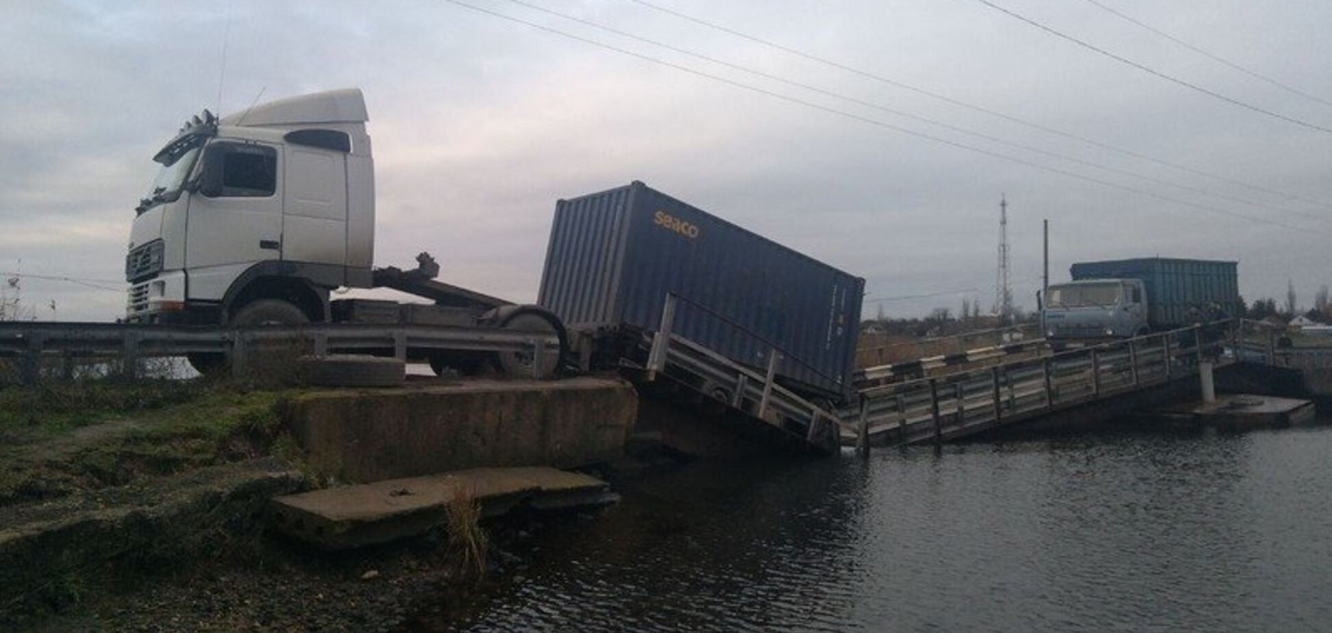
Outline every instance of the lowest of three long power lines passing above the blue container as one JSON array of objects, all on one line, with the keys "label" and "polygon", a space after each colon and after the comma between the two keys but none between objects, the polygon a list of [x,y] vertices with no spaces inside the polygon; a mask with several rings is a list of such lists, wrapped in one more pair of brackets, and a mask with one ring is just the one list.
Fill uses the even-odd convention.
[{"label": "lowest of three long power lines passing above the blue container", "polygon": [[1122,191],[1127,191],[1127,192],[1134,192],[1134,193],[1138,193],[1140,196],[1147,196],[1147,197],[1151,197],[1151,199],[1156,199],[1156,200],[1162,200],[1162,201],[1167,201],[1167,203],[1173,203],[1173,204],[1179,204],[1179,205],[1184,205],[1184,207],[1192,207],[1195,209],[1207,211],[1207,212],[1211,212],[1211,213],[1220,213],[1220,215],[1224,215],[1224,216],[1244,219],[1244,220],[1249,220],[1249,221],[1256,223],[1256,224],[1268,224],[1268,225],[1273,225],[1273,227],[1283,227],[1283,228],[1287,228],[1287,229],[1291,229],[1291,231],[1296,231],[1296,232],[1301,232],[1301,233],[1311,233],[1311,232],[1313,232],[1313,233],[1332,235],[1332,233],[1327,233],[1327,232],[1323,232],[1323,231],[1313,231],[1313,229],[1309,229],[1309,228],[1305,228],[1305,227],[1296,227],[1296,225],[1292,225],[1292,224],[1280,223],[1280,221],[1276,221],[1276,220],[1268,220],[1268,219],[1263,219],[1263,217],[1248,216],[1248,215],[1244,215],[1244,213],[1236,213],[1233,211],[1221,209],[1221,208],[1217,208],[1217,207],[1208,207],[1208,205],[1204,205],[1204,204],[1191,203],[1191,201],[1187,201],[1187,200],[1180,200],[1180,199],[1176,199],[1176,197],[1164,196],[1164,195],[1150,192],[1150,191],[1146,191],[1146,189],[1138,189],[1135,187],[1123,185],[1123,184],[1114,183],[1114,181],[1110,181],[1110,180],[1098,179],[1095,176],[1087,176],[1087,175],[1082,175],[1082,173],[1076,173],[1076,172],[1070,172],[1067,169],[1060,169],[1060,168],[1056,168],[1056,167],[1043,165],[1040,163],[1034,163],[1034,161],[1030,161],[1030,160],[1026,160],[1026,159],[1022,159],[1022,157],[1018,157],[1018,156],[1011,156],[1011,155],[1006,155],[1006,153],[1002,153],[1002,152],[994,152],[994,151],[990,151],[990,149],[978,148],[975,145],[967,145],[964,143],[958,143],[958,141],[952,141],[952,140],[948,140],[948,139],[942,139],[942,137],[932,136],[932,135],[928,135],[928,133],[924,133],[924,132],[919,132],[919,131],[914,131],[914,129],[910,129],[910,128],[903,128],[900,125],[894,125],[891,123],[880,121],[878,119],[871,119],[871,117],[867,117],[867,116],[856,115],[854,112],[847,112],[847,111],[836,109],[836,108],[832,108],[832,107],[829,107],[829,105],[822,105],[822,104],[817,104],[817,103],[813,103],[813,101],[806,101],[806,100],[799,99],[799,97],[793,97],[790,95],[783,95],[781,92],[774,92],[774,91],[770,91],[770,89],[766,89],[766,88],[759,88],[757,85],[750,85],[750,84],[735,81],[735,80],[731,80],[731,79],[727,79],[727,77],[721,77],[721,76],[717,76],[717,75],[710,75],[710,73],[706,73],[703,71],[698,71],[698,69],[694,69],[694,68],[690,68],[690,67],[686,67],[686,65],[675,64],[675,63],[666,61],[666,60],[662,60],[662,59],[657,59],[657,57],[653,57],[653,56],[649,56],[649,55],[643,55],[643,53],[638,53],[638,52],[629,51],[629,49],[625,49],[625,48],[619,48],[619,47],[615,47],[615,45],[611,45],[611,44],[606,44],[606,43],[602,43],[602,41],[597,41],[597,40],[593,40],[593,39],[589,39],[589,37],[582,37],[582,36],[578,36],[578,35],[573,35],[573,33],[569,33],[569,32],[565,32],[565,31],[559,31],[559,29],[553,28],[553,27],[546,27],[543,24],[538,24],[538,23],[530,21],[530,20],[523,20],[521,17],[513,17],[513,16],[509,16],[509,15],[505,15],[505,13],[500,13],[497,11],[492,11],[492,9],[481,8],[481,7],[477,7],[477,5],[473,5],[473,4],[468,4],[468,3],[464,3],[461,0],[445,0],[445,1],[448,1],[449,4],[454,4],[454,5],[458,5],[458,7],[470,9],[470,11],[476,11],[478,13],[485,13],[485,15],[489,15],[489,16],[500,17],[502,20],[513,21],[513,23],[517,23],[517,24],[523,24],[523,25],[527,25],[527,27],[531,27],[531,28],[535,28],[535,29],[539,29],[539,31],[545,31],[545,32],[549,32],[549,33],[553,33],[553,35],[558,35],[561,37],[567,37],[570,40],[582,41],[585,44],[590,44],[590,45],[594,45],[594,47],[599,47],[599,48],[605,48],[605,49],[609,49],[609,51],[614,51],[614,52],[618,52],[621,55],[626,55],[626,56],[630,56],[630,57],[637,57],[637,59],[641,59],[641,60],[645,60],[645,61],[651,61],[654,64],[661,64],[661,65],[665,65],[667,68],[674,68],[674,69],[681,71],[681,72],[686,72],[686,73],[690,73],[690,75],[694,75],[694,76],[698,76],[698,77],[703,77],[703,79],[710,79],[713,81],[723,83],[723,84],[731,85],[731,87],[735,87],[735,88],[741,88],[741,89],[745,89],[745,91],[755,92],[755,93],[759,93],[759,95],[766,95],[766,96],[770,96],[770,97],[774,97],[774,99],[781,99],[783,101],[790,101],[790,103],[794,103],[794,104],[798,104],[798,105],[803,105],[806,108],[813,108],[813,109],[818,109],[818,111],[822,111],[822,112],[836,115],[836,116],[840,116],[840,117],[844,117],[844,119],[851,119],[851,120],[866,123],[866,124],[875,125],[875,127],[879,127],[879,128],[891,129],[891,131],[900,132],[900,133],[904,133],[904,135],[915,136],[918,139],[924,139],[924,140],[935,141],[935,143],[939,143],[939,144],[943,144],[943,145],[950,145],[950,147],[954,147],[954,148],[966,149],[966,151],[970,151],[970,152],[980,153],[980,155],[995,157],[995,159],[999,159],[999,160],[1006,160],[1006,161],[1015,163],[1015,164],[1019,164],[1019,165],[1031,167],[1034,169],[1040,169],[1040,171],[1050,172],[1050,173],[1058,173],[1058,175],[1062,175],[1062,176],[1067,176],[1067,177],[1076,179],[1076,180],[1083,180],[1083,181],[1087,181],[1087,183],[1095,183],[1095,184],[1099,184],[1099,185],[1103,185],[1103,187],[1108,187],[1108,188],[1114,188],[1114,189],[1122,189]]}]

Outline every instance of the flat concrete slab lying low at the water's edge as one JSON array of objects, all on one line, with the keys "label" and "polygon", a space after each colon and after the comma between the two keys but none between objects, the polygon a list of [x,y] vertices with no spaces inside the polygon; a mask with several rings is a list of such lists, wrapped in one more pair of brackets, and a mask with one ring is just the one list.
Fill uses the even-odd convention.
[{"label": "flat concrete slab lying low at the water's edge", "polygon": [[329,488],[273,498],[272,526],[324,549],[348,549],[422,534],[445,521],[460,494],[484,517],[526,505],[538,510],[614,501],[607,484],[555,468],[476,468]]}]

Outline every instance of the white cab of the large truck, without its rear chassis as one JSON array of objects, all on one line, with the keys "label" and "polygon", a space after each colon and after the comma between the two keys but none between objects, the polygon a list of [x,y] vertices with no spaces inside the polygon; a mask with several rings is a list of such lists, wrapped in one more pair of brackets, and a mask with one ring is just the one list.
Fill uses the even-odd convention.
[{"label": "white cab of the large truck, without its rear chassis", "polygon": [[368,119],[361,91],[340,89],[186,123],[136,209],[127,318],[326,321],[330,289],[369,288]]}]

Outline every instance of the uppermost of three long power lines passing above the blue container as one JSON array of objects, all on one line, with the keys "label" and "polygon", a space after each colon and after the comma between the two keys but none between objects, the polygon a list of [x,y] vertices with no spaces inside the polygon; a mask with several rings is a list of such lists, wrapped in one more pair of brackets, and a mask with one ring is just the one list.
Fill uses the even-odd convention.
[{"label": "uppermost of three long power lines passing above the blue container", "polygon": [[1188,167],[1188,165],[1181,165],[1179,163],[1168,161],[1168,160],[1164,160],[1164,159],[1158,159],[1155,156],[1150,156],[1150,155],[1146,155],[1146,153],[1142,153],[1142,152],[1136,152],[1134,149],[1122,148],[1122,147],[1112,145],[1112,144],[1108,144],[1108,143],[1098,141],[1095,139],[1088,139],[1086,136],[1079,136],[1079,135],[1072,133],[1072,132],[1067,132],[1067,131],[1062,131],[1062,129],[1058,129],[1058,128],[1052,128],[1052,127],[1043,125],[1043,124],[1039,124],[1039,123],[1035,123],[1035,121],[1028,121],[1028,120],[1018,117],[1018,116],[1006,115],[1003,112],[999,112],[999,111],[995,111],[995,109],[990,109],[990,108],[986,108],[983,105],[971,104],[971,103],[963,101],[960,99],[954,99],[954,97],[950,97],[947,95],[942,95],[942,93],[938,93],[938,92],[934,92],[934,91],[928,91],[926,88],[920,88],[920,87],[916,87],[916,85],[906,84],[903,81],[898,81],[895,79],[891,79],[891,77],[887,77],[887,76],[883,76],[883,75],[879,75],[879,73],[875,73],[875,72],[870,72],[870,71],[864,71],[864,69],[860,69],[860,68],[855,68],[855,67],[851,67],[848,64],[834,61],[834,60],[830,60],[827,57],[821,57],[818,55],[809,53],[809,52],[805,52],[805,51],[801,51],[801,49],[797,49],[797,48],[793,48],[793,47],[787,47],[787,45],[783,45],[783,44],[778,44],[778,43],[771,41],[771,40],[765,40],[762,37],[755,37],[753,35],[743,33],[741,31],[737,31],[737,29],[733,29],[733,28],[729,28],[729,27],[725,27],[725,25],[721,25],[721,24],[717,24],[717,23],[711,23],[711,21],[707,21],[707,20],[703,20],[703,19],[699,19],[699,17],[694,17],[691,15],[682,13],[679,11],[675,11],[675,9],[661,7],[661,5],[649,3],[646,0],[629,0],[629,1],[639,4],[639,5],[643,5],[643,7],[647,7],[647,8],[653,9],[653,11],[658,11],[658,12],[662,12],[662,13],[666,13],[666,15],[670,15],[670,16],[675,16],[675,17],[678,17],[681,20],[691,21],[694,24],[699,24],[699,25],[711,28],[714,31],[729,33],[729,35],[733,35],[735,37],[739,37],[739,39],[743,39],[743,40],[747,40],[747,41],[753,41],[755,44],[762,44],[765,47],[769,47],[769,48],[773,48],[773,49],[777,49],[777,51],[782,51],[785,53],[790,53],[790,55],[794,55],[797,57],[802,57],[802,59],[806,59],[806,60],[810,60],[810,61],[815,61],[815,63],[819,63],[819,64],[823,64],[823,65],[827,65],[827,67],[831,67],[831,68],[836,68],[836,69],[840,69],[840,71],[844,71],[844,72],[848,72],[848,73],[864,77],[864,79],[879,81],[882,84],[892,85],[892,87],[896,87],[896,88],[902,88],[904,91],[911,91],[911,92],[915,92],[918,95],[924,95],[924,96],[927,96],[930,99],[935,99],[935,100],[939,100],[939,101],[943,101],[943,103],[947,103],[947,104],[951,104],[951,105],[956,105],[956,107],[960,107],[960,108],[967,108],[967,109],[974,111],[974,112],[980,112],[980,113],[984,113],[984,115],[990,115],[990,116],[994,116],[996,119],[1002,119],[1002,120],[1006,120],[1006,121],[1010,121],[1010,123],[1024,125],[1024,127],[1031,128],[1031,129],[1038,129],[1040,132],[1046,132],[1046,133],[1050,133],[1050,135],[1055,135],[1055,136],[1060,136],[1060,137],[1064,137],[1064,139],[1075,140],[1075,141],[1079,141],[1079,143],[1083,143],[1083,144],[1087,144],[1087,145],[1091,145],[1091,147],[1096,147],[1096,148],[1100,148],[1100,149],[1116,152],[1116,153],[1120,153],[1123,156],[1130,156],[1130,157],[1134,157],[1134,159],[1146,160],[1148,163],[1155,163],[1158,165],[1169,167],[1172,169],[1179,169],[1181,172],[1192,173],[1195,176],[1203,176],[1203,177],[1212,179],[1212,180],[1216,180],[1216,181],[1220,181],[1220,183],[1227,183],[1227,184],[1232,184],[1232,185],[1236,185],[1236,187],[1243,187],[1245,189],[1252,189],[1252,191],[1263,192],[1263,193],[1267,193],[1267,195],[1271,195],[1271,196],[1283,197],[1285,200],[1296,200],[1296,201],[1301,201],[1301,203],[1307,203],[1307,204],[1315,204],[1315,205],[1319,205],[1319,207],[1324,207],[1324,208],[1332,209],[1332,203],[1325,203],[1325,201],[1321,201],[1321,200],[1315,200],[1315,199],[1311,199],[1311,197],[1304,197],[1304,196],[1299,196],[1299,195],[1295,195],[1295,193],[1288,193],[1288,192],[1283,192],[1283,191],[1279,191],[1279,189],[1272,189],[1272,188],[1268,188],[1268,187],[1263,187],[1263,185],[1257,185],[1257,184],[1252,184],[1252,183],[1245,183],[1243,180],[1232,179],[1229,176],[1221,176],[1221,175],[1217,175],[1217,173],[1211,173],[1211,172],[1207,172],[1207,171],[1203,171],[1203,169],[1196,169],[1196,168],[1192,168],[1192,167]]}]

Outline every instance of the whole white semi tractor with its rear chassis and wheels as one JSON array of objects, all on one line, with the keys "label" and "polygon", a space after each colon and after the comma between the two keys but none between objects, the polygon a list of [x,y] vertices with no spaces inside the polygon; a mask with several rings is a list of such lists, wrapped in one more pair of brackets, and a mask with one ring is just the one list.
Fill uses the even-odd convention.
[{"label": "whole white semi tractor with its rear chassis and wheels", "polygon": [[[194,116],[153,156],[161,167],[139,201],[125,257],[125,318],[143,324],[302,325],[376,322],[493,326],[557,334],[542,377],[563,362],[559,318],[436,281],[417,267],[374,267],[374,160],[360,89],[281,99]],[[330,300],[344,288],[392,288],[430,305]],[[473,370],[488,361],[531,376],[533,354],[408,350],[410,360]],[[222,358],[189,357],[200,370]]]}]

